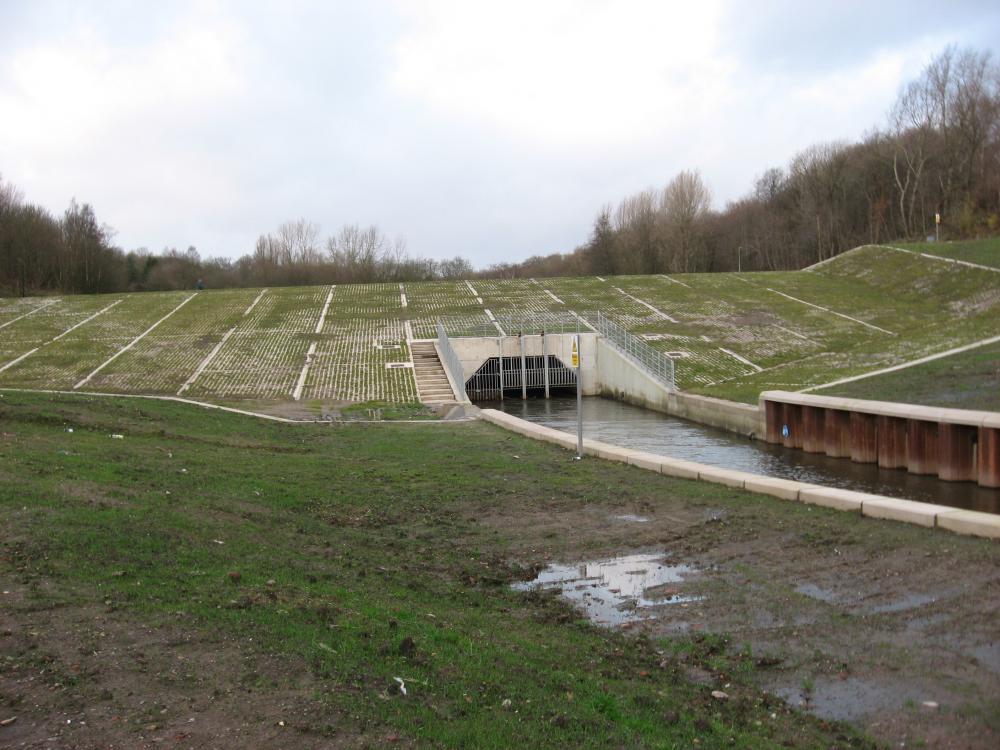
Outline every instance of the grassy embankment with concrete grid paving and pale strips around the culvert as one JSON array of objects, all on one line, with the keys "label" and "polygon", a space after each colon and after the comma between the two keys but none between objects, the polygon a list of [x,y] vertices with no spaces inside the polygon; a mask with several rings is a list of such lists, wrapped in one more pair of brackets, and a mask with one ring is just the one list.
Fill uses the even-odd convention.
[{"label": "grassy embankment with concrete grid paving and pale strips around the culvert", "polygon": [[412,371],[387,365],[439,319],[567,310],[675,356],[682,389],[753,403],[996,335],[1000,274],[867,247],[799,272],[7,299],[0,386],[408,403]]}]

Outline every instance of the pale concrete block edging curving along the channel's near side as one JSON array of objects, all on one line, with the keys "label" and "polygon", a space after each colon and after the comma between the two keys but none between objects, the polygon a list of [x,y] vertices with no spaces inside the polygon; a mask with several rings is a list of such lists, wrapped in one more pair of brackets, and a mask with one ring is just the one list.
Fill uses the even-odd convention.
[{"label": "pale concrete block edging curving along the channel's near side", "polygon": [[[482,409],[480,418],[534,440],[554,443],[570,450],[576,448],[575,435],[535,424],[496,409]],[[588,438],[584,438],[583,451],[590,456],[626,463],[679,479],[715,482],[727,487],[770,495],[783,500],[796,500],[835,510],[860,513],[870,518],[902,521],[928,528],[938,527],[959,534],[1000,539],[1000,516],[992,513],[961,510],[946,505],[934,505],[835,487],[822,487],[790,479],[766,477],[622,448]]]}]

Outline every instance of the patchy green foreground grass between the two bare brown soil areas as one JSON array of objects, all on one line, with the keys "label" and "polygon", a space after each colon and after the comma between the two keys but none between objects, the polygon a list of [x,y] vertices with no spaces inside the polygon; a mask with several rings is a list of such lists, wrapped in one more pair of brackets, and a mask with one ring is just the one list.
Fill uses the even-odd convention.
[{"label": "patchy green foreground grass between the two bare brown soil areas", "polygon": [[[33,607],[100,600],[252,642],[311,672],[317,699],[359,727],[487,748],[827,747],[853,734],[751,688],[715,701],[661,666],[667,644],[511,591],[515,540],[477,522],[612,491],[718,507],[726,488],[569,461],[482,423],[289,426],[7,392],[0,424],[0,575],[29,583]],[[720,636],[669,648],[752,670]],[[387,696],[399,675],[409,695]]]}]

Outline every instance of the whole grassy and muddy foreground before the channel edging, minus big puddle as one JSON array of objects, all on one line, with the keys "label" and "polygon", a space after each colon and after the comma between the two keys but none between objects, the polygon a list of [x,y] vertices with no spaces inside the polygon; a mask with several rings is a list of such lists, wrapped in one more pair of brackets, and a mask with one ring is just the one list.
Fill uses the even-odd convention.
[{"label": "whole grassy and muddy foreground before the channel edging, minus big puddle", "polygon": [[[0,425],[5,746],[868,746],[761,691],[845,679],[882,686],[866,701],[889,701],[893,745],[996,737],[996,677],[970,656],[995,635],[987,540],[577,462],[478,422],[6,393]],[[695,605],[633,636],[509,587],[637,548],[705,574],[683,584]]]}]

